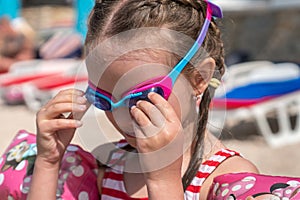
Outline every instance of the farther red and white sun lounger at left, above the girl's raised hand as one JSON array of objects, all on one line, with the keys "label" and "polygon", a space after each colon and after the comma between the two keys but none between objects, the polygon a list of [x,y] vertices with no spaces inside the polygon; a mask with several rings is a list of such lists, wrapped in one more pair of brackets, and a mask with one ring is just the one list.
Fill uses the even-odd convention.
[{"label": "farther red and white sun lounger at left, above the girl's raised hand", "polygon": [[[52,80],[52,76],[76,74],[81,60],[32,60],[14,64],[9,73],[0,75],[0,95],[8,104],[24,103],[23,86]],[[52,81],[55,82],[55,81]]]}]

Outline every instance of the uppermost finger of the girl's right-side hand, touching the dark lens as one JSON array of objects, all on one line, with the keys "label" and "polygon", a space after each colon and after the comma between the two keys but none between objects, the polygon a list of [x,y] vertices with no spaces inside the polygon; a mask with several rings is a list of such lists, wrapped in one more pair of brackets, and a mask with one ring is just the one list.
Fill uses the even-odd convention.
[{"label": "uppermost finger of the girl's right-side hand, touching the dark lens", "polygon": [[148,98],[158,108],[166,120],[169,122],[177,121],[177,114],[173,107],[162,96],[155,92],[150,92],[148,94]]}]

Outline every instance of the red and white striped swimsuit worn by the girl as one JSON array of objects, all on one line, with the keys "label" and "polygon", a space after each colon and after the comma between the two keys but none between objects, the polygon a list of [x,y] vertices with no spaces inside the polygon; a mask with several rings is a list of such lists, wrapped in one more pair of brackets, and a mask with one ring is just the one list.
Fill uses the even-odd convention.
[{"label": "red and white striped swimsuit worn by the girl", "polygon": [[[124,140],[120,141],[117,146],[122,148],[127,143]],[[240,154],[229,150],[221,149],[208,160],[203,162],[199,170],[192,180],[191,184],[185,191],[185,200],[198,200],[200,198],[200,189],[207,177],[227,158],[239,156]],[[124,169],[124,150],[120,149],[112,154],[110,163],[113,168],[107,168],[102,181],[102,200],[147,200],[148,198],[131,198],[126,192],[123,181]]]}]

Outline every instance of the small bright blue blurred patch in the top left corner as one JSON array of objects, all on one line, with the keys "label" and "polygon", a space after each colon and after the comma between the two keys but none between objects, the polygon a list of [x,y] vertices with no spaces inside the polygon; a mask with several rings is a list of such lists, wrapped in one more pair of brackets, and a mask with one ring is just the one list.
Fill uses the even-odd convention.
[{"label": "small bright blue blurred patch in the top left corner", "polygon": [[15,19],[20,16],[20,0],[0,0],[0,18]]}]

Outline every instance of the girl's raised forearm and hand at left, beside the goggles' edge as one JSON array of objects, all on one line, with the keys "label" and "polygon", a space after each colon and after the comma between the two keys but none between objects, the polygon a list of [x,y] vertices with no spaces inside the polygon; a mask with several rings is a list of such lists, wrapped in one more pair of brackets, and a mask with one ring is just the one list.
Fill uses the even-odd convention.
[{"label": "girl's raised forearm and hand at left, beside the goggles' edge", "polygon": [[37,158],[28,199],[56,199],[60,163],[76,128],[82,123],[63,113],[83,114],[84,93],[69,89],[61,91],[37,113]]}]

